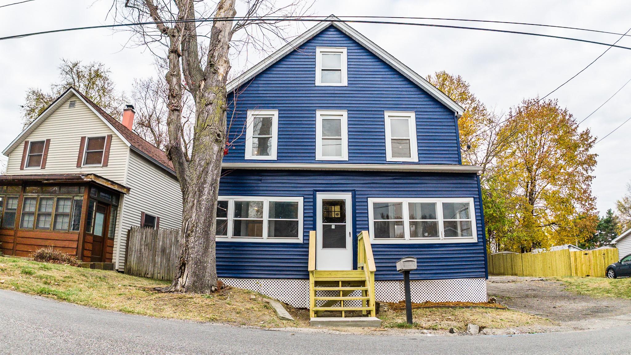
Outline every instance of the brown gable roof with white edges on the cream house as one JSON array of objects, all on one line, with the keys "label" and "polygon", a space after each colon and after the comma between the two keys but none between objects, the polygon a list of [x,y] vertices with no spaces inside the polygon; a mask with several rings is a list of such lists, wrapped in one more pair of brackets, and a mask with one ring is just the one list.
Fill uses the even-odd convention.
[{"label": "brown gable roof with white edges on the cream house", "polygon": [[103,111],[101,107],[98,107],[97,104],[92,102],[92,100],[88,99],[83,93],[79,92],[73,87],[68,88],[64,93],[59,95],[57,99],[52,102],[52,104],[47,107],[47,109],[38,116],[35,121],[25,128],[20,135],[18,135],[15,140],[9,144],[3,151],[4,155],[9,155],[15,148],[17,148],[33,131],[37,128],[42,122],[45,121],[53,112],[55,112],[61,105],[64,104],[70,97],[76,95],[86,106],[88,106],[100,119],[102,119],[103,123],[107,124],[116,135],[121,138],[122,141],[127,145],[127,147],[134,150],[134,152],[143,155],[146,159],[150,160],[154,164],[162,167],[170,174],[175,175],[175,170],[173,164],[171,164],[170,160],[168,160],[167,154],[155,147],[155,145],[149,143],[144,140],[141,136],[137,135],[133,131],[127,129],[122,123],[120,123],[117,119],[107,114],[107,112]]}]

